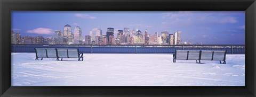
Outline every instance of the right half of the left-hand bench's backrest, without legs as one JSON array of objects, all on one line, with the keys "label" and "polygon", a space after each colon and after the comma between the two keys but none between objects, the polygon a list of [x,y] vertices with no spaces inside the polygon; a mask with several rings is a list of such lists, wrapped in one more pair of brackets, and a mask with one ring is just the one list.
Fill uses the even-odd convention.
[{"label": "right half of the left-hand bench's backrest, without legs", "polygon": [[78,49],[56,49],[59,58],[78,58]]}]

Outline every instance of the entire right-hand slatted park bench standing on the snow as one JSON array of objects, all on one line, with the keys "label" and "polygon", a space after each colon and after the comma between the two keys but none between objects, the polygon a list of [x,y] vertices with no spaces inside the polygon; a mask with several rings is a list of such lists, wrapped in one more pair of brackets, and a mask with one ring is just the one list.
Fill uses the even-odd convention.
[{"label": "entire right-hand slatted park bench standing on the snow", "polygon": [[[226,64],[227,51],[209,51],[209,50],[175,50],[173,54],[173,63],[176,60],[219,60],[220,64]],[[198,62],[197,62],[198,60]],[[223,63],[221,63],[223,61]]]}]

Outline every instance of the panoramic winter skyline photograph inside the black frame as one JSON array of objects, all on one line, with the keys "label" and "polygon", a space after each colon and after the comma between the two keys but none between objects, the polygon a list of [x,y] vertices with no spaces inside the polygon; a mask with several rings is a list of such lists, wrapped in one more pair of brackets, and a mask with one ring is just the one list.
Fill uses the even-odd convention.
[{"label": "panoramic winter skyline photograph inside the black frame", "polygon": [[244,11],[12,11],[12,86],[245,86]]}]

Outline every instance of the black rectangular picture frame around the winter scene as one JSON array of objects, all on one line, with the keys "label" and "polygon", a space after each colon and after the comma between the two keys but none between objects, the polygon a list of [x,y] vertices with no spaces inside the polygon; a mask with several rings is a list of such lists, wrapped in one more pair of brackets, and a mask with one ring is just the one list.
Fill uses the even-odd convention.
[{"label": "black rectangular picture frame around the winter scene", "polygon": [[[255,96],[255,0],[1,0],[0,96]],[[11,11],[245,11],[245,86],[11,86]]]}]

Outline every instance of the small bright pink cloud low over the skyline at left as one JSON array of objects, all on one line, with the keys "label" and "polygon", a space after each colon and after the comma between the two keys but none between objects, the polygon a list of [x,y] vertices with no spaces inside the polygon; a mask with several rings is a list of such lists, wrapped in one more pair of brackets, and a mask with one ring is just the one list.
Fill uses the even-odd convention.
[{"label": "small bright pink cloud low over the skyline at left", "polygon": [[54,31],[49,28],[36,28],[33,30],[28,30],[27,33],[35,33],[35,34],[53,34]]}]

